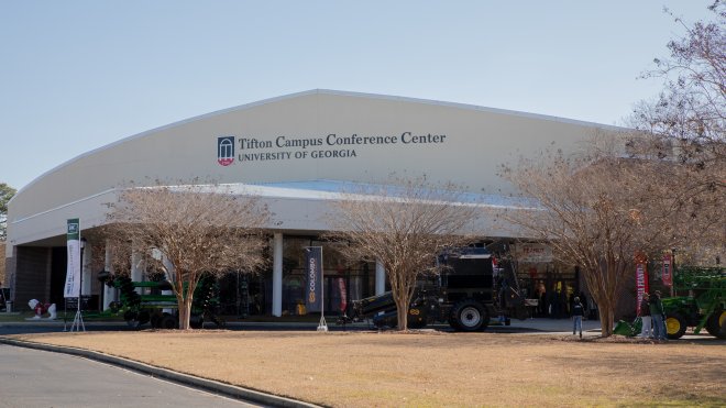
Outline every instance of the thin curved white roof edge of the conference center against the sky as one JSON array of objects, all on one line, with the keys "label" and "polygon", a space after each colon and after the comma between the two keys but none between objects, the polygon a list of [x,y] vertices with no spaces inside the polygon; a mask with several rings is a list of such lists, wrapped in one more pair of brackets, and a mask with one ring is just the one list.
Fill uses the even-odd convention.
[{"label": "thin curved white roof edge of the conference center against the sky", "polygon": [[[94,148],[94,150],[88,151],[86,153],[81,153],[76,157],[73,157],[73,158],[70,158],[66,162],[61,163],[59,165],[51,168],[50,170],[44,172],[40,176],[35,177],[31,183],[29,183],[28,185],[22,187],[20,190],[18,190],[18,192],[13,196],[13,198],[19,196],[25,189],[32,187],[35,184],[36,180],[45,177],[46,175],[48,175],[48,174],[51,174],[51,173],[53,173],[53,172],[55,172],[59,168],[68,166],[68,165],[73,164],[74,162],[76,162],[76,161],[78,161],[82,157],[89,156],[89,155],[91,155],[96,152],[100,152],[100,151],[105,151],[107,148],[111,148],[111,147],[113,147],[116,145],[119,145],[121,143],[125,143],[125,142],[134,140],[134,139],[143,137],[143,136],[146,136],[151,133],[155,133],[155,132],[163,131],[163,130],[166,130],[166,129],[180,126],[183,124],[195,122],[195,121],[198,121],[198,120],[201,120],[201,119],[212,118],[212,117],[229,113],[229,112],[246,110],[246,109],[251,109],[251,108],[267,104],[267,103],[273,103],[273,102],[277,102],[277,101],[282,101],[282,100],[299,98],[299,97],[304,97],[304,96],[308,96],[308,95],[317,95],[317,93],[345,96],[345,97],[356,97],[356,98],[369,98],[369,99],[393,100],[393,101],[413,102],[413,103],[422,103],[422,104],[433,104],[433,106],[448,107],[448,108],[475,110],[475,111],[491,112],[491,113],[498,113],[498,114],[507,114],[507,115],[528,118],[528,119],[539,119],[539,120],[547,120],[547,121],[553,121],[553,122],[578,124],[578,125],[582,125],[582,126],[600,128],[600,129],[607,129],[607,130],[613,130],[613,131],[628,130],[627,128],[614,126],[614,125],[609,125],[609,124],[586,122],[586,121],[580,121],[580,120],[574,120],[574,119],[565,119],[565,118],[552,117],[552,115],[547,115],[547,114],[539,114],[539,113],[519,112],[519,111],[507,110],[507,109],[480,107],[480,106],[476,106],[476,104],[444,102],[444,101],[438,101],[438,100],[432,100],[432,99],[419,99],[419,98],[397,97],[397,96],[381,95],[381,93],[365,93],[365,92],[333,90],[333,89],[310,89],[310,90],[305,90],[305,91],[301,91],[301,92],[283,95],[283,96],[279,96],[279,97],[263,99],[263,100],[258,100],[258,101],[255,101],[255,102],[244,103],[244,104],[240,104],[240,106],[232,107],[232,108],[226,108],[226,109],[221,109],[221,110],[218,110],[218,111],[204,113],[204,114],[200,114],[200,115],[197,115],[197,117],[191,117],[191,118],[188,118],[188,119],[184,119],[184,120],[180,120],[180,121],[177,121],[177,122],[173,122],[173,123],[169,123],[169,124],[166,124],[166,125],[163,125],[163,126],[150,129],[147,131],[144,131],[144,132],[141,132],[141,133],[133,134],[131,136],[120,139],[116,142],[111,142],[107,145]],[[13,200],[13,198],[10,199],[10,202]]]}]

